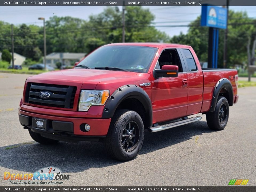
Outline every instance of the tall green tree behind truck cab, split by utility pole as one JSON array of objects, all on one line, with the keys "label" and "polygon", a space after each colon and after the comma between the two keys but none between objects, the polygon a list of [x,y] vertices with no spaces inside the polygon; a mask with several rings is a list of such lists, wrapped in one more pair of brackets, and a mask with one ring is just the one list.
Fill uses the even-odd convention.
[{"label": "tall green tree behind truck cab, split by utility pole", "polygon": [[[167,42],[168,35],[151,25],[154,15],[141,6],[127,6],[125,11],[125,42]],[[118,7],[107,7],[98,15],[89,17],[87,26],[93,37],[104,44],[122,42],[122,13]],[[98,28],[98,30],[97,30]]]}]

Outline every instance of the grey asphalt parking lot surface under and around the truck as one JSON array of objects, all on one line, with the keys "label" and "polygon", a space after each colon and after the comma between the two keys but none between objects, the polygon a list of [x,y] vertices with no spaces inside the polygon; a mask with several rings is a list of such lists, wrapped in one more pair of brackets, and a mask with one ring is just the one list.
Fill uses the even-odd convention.
[{"label": "grey asphalt parking lot surface under and around the truck", "polygon": [[239,88],[225,130],[211,131],[203,115],[185,126],[146,131],[138,157],[118,162],[99,142],[34,142],[18,119],[29,76],[0,73],[0,186],[13,186],[3,179],[5,171],[33,173],[48,166],[70,175],[62,186],[227,186],[231,179],[256,185],[256,87]]}]

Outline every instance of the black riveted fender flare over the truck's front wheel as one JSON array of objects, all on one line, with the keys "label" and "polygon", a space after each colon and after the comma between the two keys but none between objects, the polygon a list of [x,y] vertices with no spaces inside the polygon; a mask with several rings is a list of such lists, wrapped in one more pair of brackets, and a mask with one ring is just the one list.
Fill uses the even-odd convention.
[{"label": "black riveted fender flare over the truck's front wheel", "polygon": [[112,118],[119,104],[127,98],[134,98],[142,103],[149,121],[148,125],[151,127],[153,121],[152,103],[146,91],[137,85],[124,85],[115,90],[107,100],[102,119]]}]

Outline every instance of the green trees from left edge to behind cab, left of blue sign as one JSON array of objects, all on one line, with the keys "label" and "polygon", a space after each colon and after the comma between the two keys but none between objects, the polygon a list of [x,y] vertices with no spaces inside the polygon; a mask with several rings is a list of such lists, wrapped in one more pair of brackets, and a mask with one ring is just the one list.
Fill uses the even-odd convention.
[{"label": "green trees from left edge to behind cab, left of blue sign", "polygon": [[[167,42],[168,35],[151,26],[154,15],[141,6],[127,6],[126,42]],[[14,26],[14,51],[38,61],[43,55],[43,27]],[[11,25],[0,21],[0,51],[11,51]],[[52,52],[90,53],[107,43],[122,41],[122,11],[108,7],[88,21],[73,17],[51,17],[46,21],[47,54]]]}]

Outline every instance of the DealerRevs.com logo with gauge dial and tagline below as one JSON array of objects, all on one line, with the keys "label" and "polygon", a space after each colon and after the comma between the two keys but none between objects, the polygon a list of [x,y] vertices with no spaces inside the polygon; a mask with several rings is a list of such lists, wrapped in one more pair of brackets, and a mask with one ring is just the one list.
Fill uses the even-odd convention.
[{"label": "DealerRevs.com logo with gauge dial and tagline below", "polygon": [[64,180],[69,180],[69,175],[63,174],[57,167],[44,167],[34,173],[10,173],[6,171],[3,179],[10,181],[12,185],[19,184],[63,184]]}]

